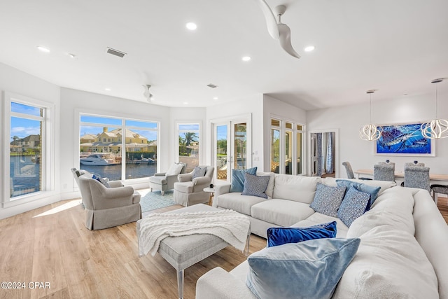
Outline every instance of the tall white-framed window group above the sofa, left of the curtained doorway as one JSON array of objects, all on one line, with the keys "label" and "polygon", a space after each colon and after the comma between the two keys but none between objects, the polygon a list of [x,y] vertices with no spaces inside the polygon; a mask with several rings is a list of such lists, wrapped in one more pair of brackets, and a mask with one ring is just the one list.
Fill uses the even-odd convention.
[{"label": "tall white-framed window group above the sofa, left of the curtained doorway", "polygon": [[[271,171],[302,174],[303,126],[271,118]],[[283,157],[283,159],[281,158]],[[296,161],[296,162],[294,162]]]}]

